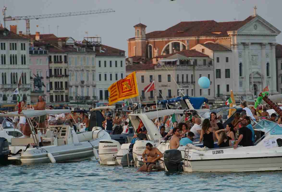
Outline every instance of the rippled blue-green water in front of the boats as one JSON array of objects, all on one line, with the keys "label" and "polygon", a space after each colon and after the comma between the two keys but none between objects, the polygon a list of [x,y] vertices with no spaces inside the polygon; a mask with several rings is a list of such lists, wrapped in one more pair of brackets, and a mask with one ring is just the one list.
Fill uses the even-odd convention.
[{"label": "rippled blue-green water in front of the boats", "polygon": [[246,173],[137,173],[134,167],[74,163],[0,167],[0,191],[282,191],[282,171]]}]

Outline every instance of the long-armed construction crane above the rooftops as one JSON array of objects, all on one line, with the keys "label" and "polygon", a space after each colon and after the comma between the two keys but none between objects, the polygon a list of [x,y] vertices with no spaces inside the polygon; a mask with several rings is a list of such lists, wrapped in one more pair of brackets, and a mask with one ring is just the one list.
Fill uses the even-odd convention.
[{"label": "long-armed construction crane above the rooftops", "polygon": [[68,17],[68,16],[76,16],[76,15],[90,15],[97,13],[109,13],[115,12],[113,9],[100,9],[100,10],[92,10],[92,11],[81,11],[81,12],[69,12],[69,13],[58,13],[58,14],[47,14],[47,15],[36,15],[36,16],[17,16],[17,17],[5,17],[5,12],[7,8],[4,7],[3,15],[4,15],[4,26],[6,27],[6,21],[17,21],[17,20],[25,20],[26,22],[26,35],[30,35],[30,19],[44,19],[44,18],[52,18],[52,17]]}]

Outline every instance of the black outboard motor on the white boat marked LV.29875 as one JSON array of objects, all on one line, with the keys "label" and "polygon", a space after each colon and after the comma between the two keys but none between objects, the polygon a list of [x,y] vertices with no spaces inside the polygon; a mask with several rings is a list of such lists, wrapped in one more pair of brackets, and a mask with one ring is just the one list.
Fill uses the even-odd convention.
[{"label": "black outboard motor on the white boat marked LV.29875", "polygon": [[169,149],[164,152],[164,165],[168,171],[183,171],[182,155],[178,149]]}]

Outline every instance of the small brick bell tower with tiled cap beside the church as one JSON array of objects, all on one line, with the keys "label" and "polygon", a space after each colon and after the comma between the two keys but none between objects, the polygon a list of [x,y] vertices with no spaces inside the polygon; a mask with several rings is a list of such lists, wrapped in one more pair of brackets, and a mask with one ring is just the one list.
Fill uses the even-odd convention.
[{"label": "small brick bell tower with tiled cap beside the church", "polygon": [[146,57],[146,25],[139,23],[135,26],[135,56]]}]

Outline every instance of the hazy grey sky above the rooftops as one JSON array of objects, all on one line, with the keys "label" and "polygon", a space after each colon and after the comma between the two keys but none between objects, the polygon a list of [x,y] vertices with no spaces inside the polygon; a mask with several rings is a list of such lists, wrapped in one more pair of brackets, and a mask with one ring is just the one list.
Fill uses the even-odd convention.
[{"label": "hazy grey sky above the rooftops", "polygon": [[[282,30],[281,0],[1,0],[1,8],[7,7],[6,16],[32,16],[52,13],[77,12],[112,8],[116,12],[57,17],[30,20],[30,32],[54,33],[57,35],[59,25],[60,37],[73,37],[82,41],[88,31],[90,36],[102,37],[102,43],[126,51],[127,39],[134,37],[133,26],[139,23],[147,25],[146,32],[165,30],[180,21],[244,20],[257,14]],[[3,22],[3,17],[0,19]],[[18,31],[25,32],[25,21],[6,22],[18,25]],[[37,28],[36,25],[39,25]],[[277,36],[277,43],[282,43],[282,35]]]}]

